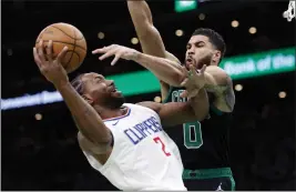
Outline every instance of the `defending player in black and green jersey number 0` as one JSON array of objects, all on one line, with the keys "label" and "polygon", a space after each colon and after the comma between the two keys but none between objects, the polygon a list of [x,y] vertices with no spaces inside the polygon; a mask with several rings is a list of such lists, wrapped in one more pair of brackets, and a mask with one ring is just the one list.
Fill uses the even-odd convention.
[{"label": "defending player in black and green jersey number 0", "polygon": [[[145,1],[127,1],[135,31],[144,53],[166,58],[174,70],[161,65],[147,68],[161,82],[164,102],[185,102],[186,95],[181,82],[184,77],[177,72],[181,65],[197,70],[206,64],[206,91],[211,109],[207,118],[200,122],[167,129],[169,135],[178,145],[184,164],[183,180],[190,191],[232,191],[235,188],[228,160],[228,129],[235,104],[233,83],[227,73],[218,68],[225,52],[223,38],[211,29],[197,29],[187,42],[185,63],[181,63],[165,50],[152,14]],[[167,61],[169,62],[169,61]],[[161,77],[162,70],[171,70],[170,77]],[[196,82],[197,83],[197,82]],[[193,97],[193,95],[190,95]]]}]

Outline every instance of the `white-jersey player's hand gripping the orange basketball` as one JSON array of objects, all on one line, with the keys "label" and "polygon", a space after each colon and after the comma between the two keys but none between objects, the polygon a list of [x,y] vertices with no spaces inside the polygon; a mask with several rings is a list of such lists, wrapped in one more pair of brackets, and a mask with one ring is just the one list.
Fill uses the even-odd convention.
[{"label": "white-jersey player's hand gripping the orange basketball", "polygon": [[48,81],[52,82],[55,88],[69,82],[67,71],[61,64],[61,61],[65,57],[67,50],[68,47],[64,47],[59,55],[53,58],[52,41],[49,41],[48,47],[45,47],[43,41],[40,40],[39,47],[33,48],[34,61],[40,72],[47,78]]}]

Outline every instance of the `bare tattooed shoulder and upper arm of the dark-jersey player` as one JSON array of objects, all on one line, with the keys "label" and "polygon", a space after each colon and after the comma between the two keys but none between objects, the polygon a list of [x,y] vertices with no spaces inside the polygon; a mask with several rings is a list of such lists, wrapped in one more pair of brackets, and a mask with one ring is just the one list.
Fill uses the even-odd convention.
[{"label": "bare tattooed shoulder and upper arm of the dark-jersey player", "polygon": [[206,68],[205,78],[206,91],[215,97],[213,104],[223,112],[232,112],[235,104],[232,79],[223,69],[214,65]]}]

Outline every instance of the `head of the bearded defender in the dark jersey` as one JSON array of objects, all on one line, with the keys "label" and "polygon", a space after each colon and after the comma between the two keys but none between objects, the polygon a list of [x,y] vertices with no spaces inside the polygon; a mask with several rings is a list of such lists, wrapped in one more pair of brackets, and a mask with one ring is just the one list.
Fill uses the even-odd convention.
[{"label": "head of the bearded defender in the dark jersey", "polygon": [[196,29],[186,47],[185,64],[201,69],[203,64],[218,65],[226,50],[221,34],[207,28]]}]

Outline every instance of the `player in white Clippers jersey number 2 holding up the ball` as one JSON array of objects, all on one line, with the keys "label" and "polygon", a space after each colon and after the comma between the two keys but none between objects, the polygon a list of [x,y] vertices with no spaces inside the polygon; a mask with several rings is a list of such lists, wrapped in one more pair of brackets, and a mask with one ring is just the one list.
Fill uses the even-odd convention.
[{"label": "player in white Clippers jersey number 2 holding up the ball", "polygon": [[[134,58],[129,49],[120,50],[124,52],[122,58]],[[162,124],[204,118],[206,113],[194,110],[208,108],[204,89],[201,87],[198,94],[187,102],[127,104],[113,81],[101,74],[84,73],[70,83],[61,65],[65,52],[67,48],[53,59],[52,41],[44,48],[42,40],[40,48],[33,49],[41,73],[61,93],[73,115],[80,131],[80,148],[92,168],[120,190],[186,191],[178,149]],[[144,58],[145,62],[157,60],[142,53],[136,58]],[[202,82],[203,71],[196,77]]]}]

